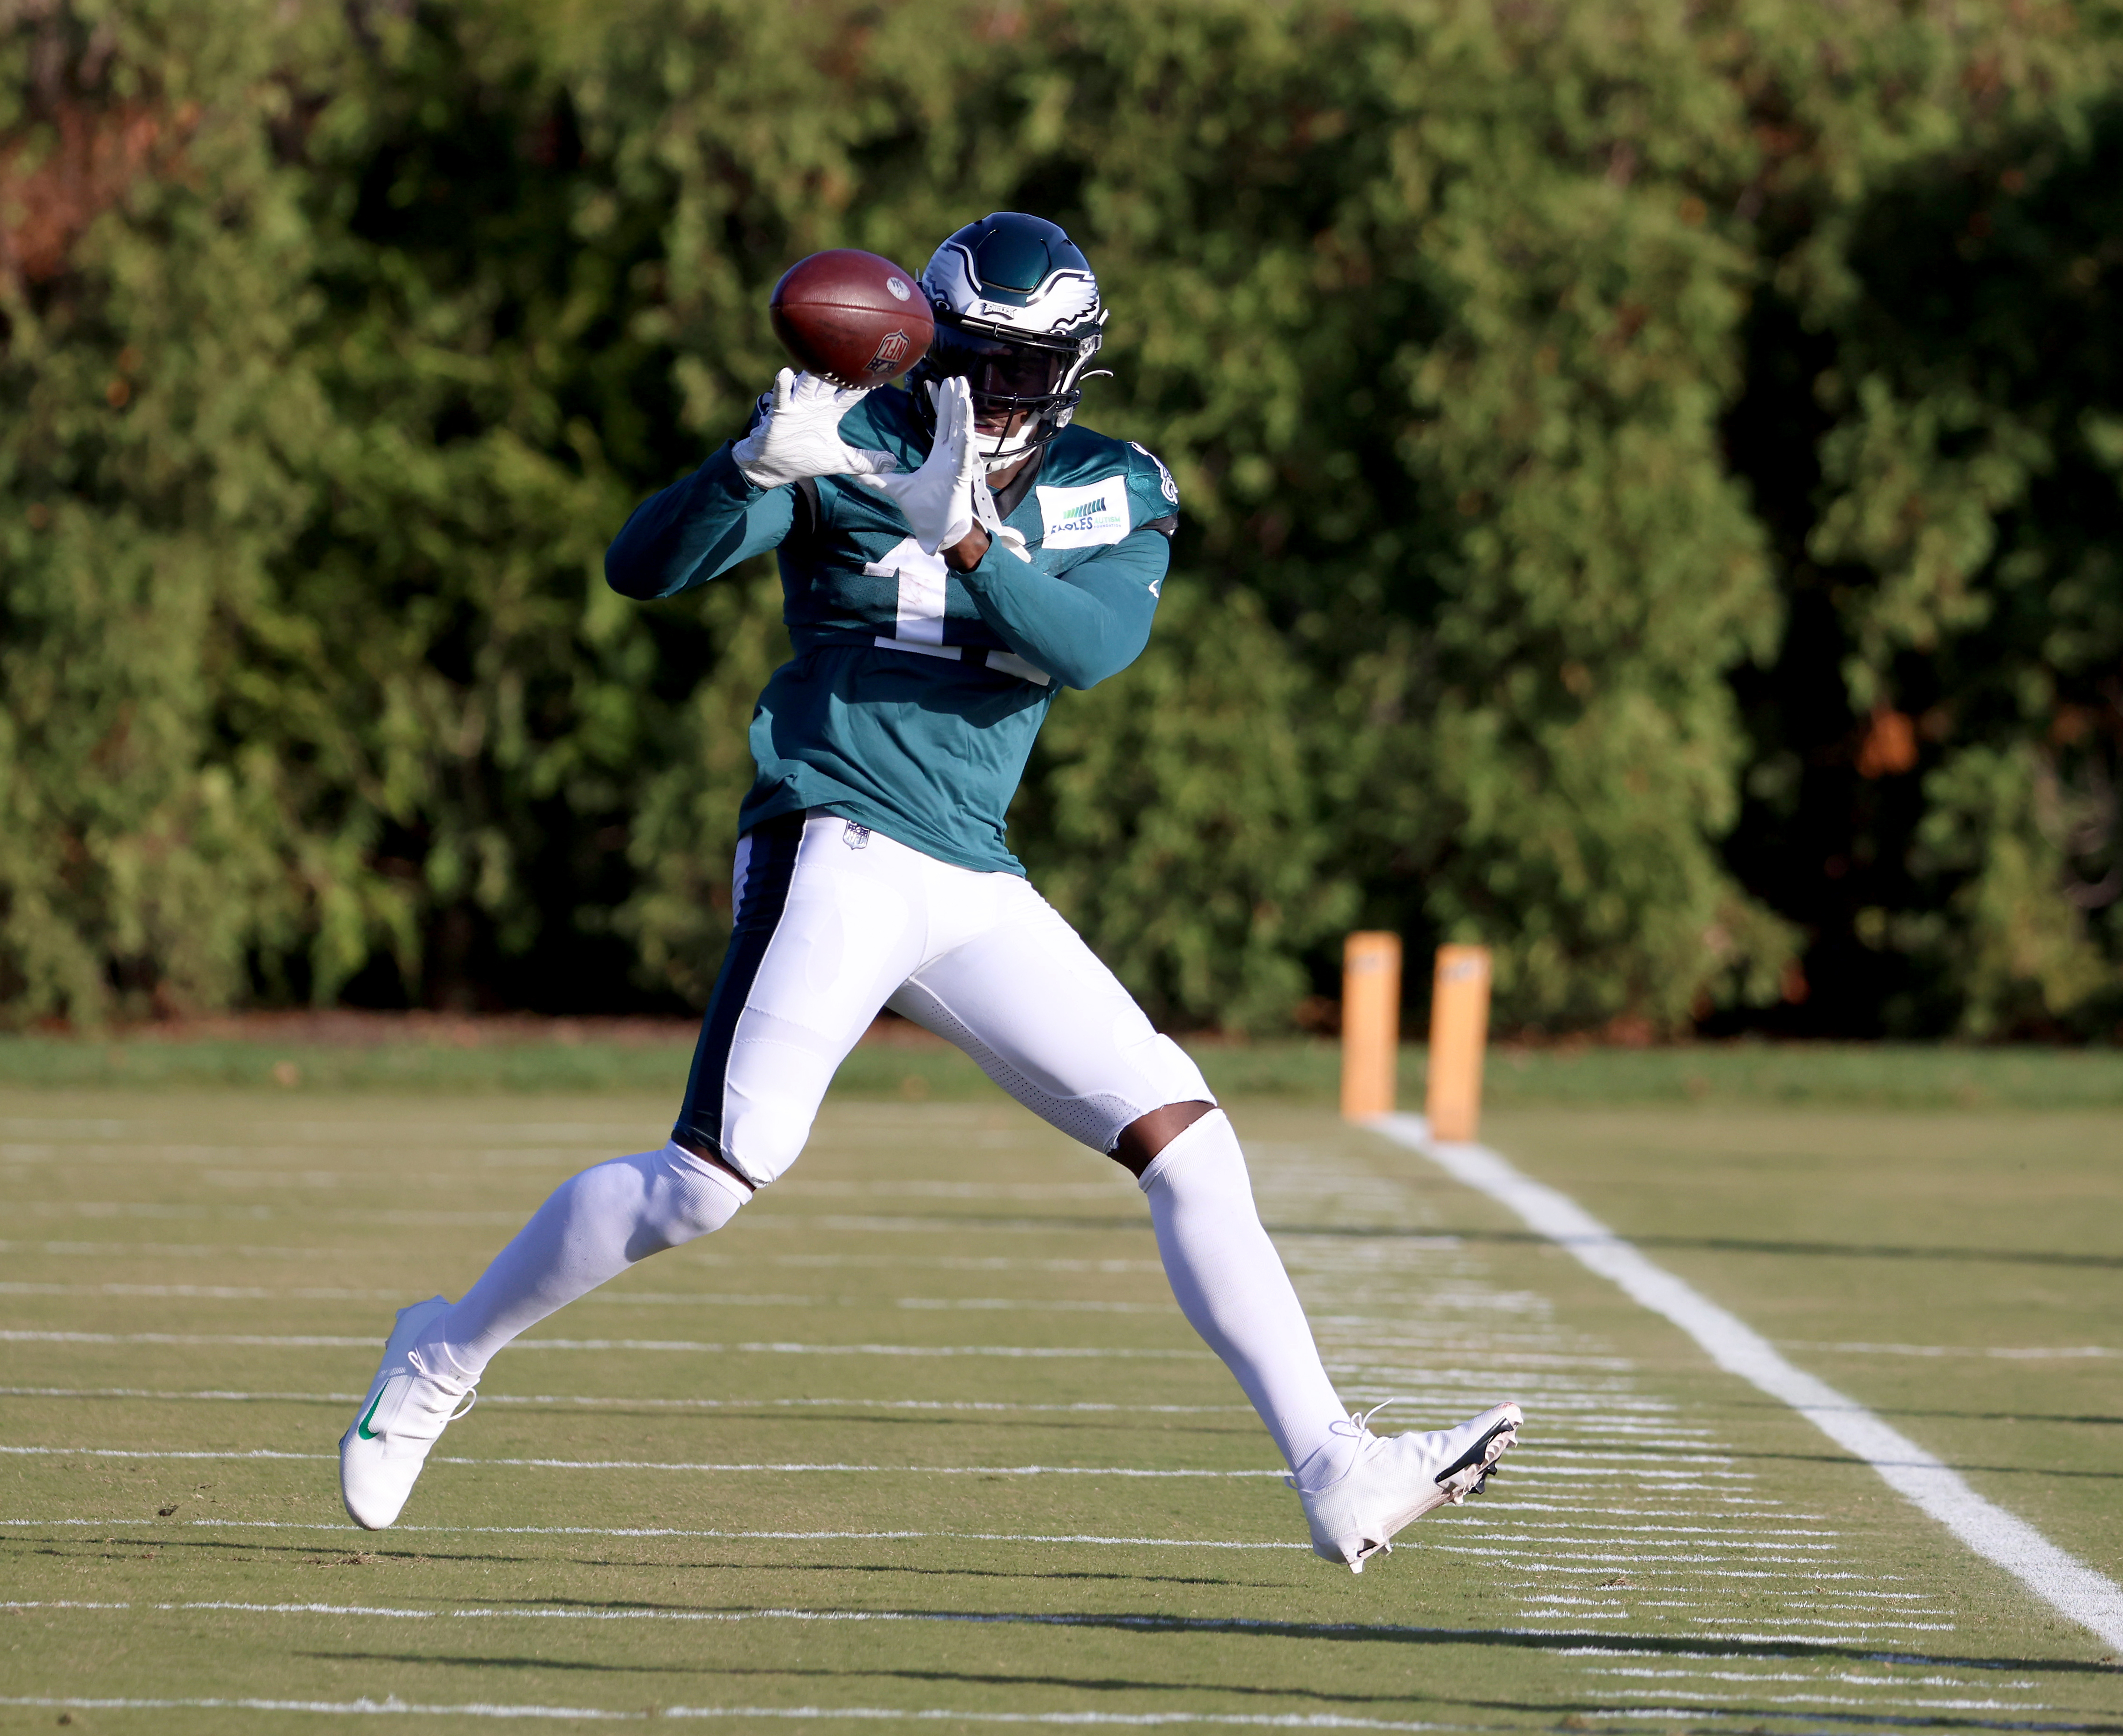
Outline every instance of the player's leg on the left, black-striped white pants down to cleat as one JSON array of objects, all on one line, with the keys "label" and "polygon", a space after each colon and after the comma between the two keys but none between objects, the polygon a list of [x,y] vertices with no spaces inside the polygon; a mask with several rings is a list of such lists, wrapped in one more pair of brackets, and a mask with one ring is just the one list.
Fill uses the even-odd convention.
[{"label": "player's leg on the left, black-striped white pants down to cleat", "polygon": [[637,1261],[722,1229],[796,1161],[834,1067],[919,959],[919,908],[900,883],[913,853],[868,843],[862,828],[802,815],[741,840],[737,925],[671,1142],[563,1182],[454,1307],[435,1297],[399,1314],[340,1441],[359,1524],[397,1517],[452,1407],[510,1339]]}]

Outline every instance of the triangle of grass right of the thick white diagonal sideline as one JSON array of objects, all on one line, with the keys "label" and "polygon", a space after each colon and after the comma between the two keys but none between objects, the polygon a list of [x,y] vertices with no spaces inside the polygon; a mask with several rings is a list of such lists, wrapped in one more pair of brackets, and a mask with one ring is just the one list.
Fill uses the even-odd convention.
[{"label": "triangle of grass right of the thick white diagonal sideline", "polygon": [[2123,1121],[1518,1110],[1484,1131],[2123,1579]]}]

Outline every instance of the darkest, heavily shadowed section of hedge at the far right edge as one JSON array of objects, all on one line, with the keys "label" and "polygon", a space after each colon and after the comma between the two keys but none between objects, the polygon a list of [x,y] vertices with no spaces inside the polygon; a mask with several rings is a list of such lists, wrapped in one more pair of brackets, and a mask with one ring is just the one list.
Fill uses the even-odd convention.
[{"label": "darkest, heavily shadowed section of hedge at the far right edge", "polygon": [[1758,758],[1728,860],[1815,932],[1802,1027],[2123,1014],[2115,25],[1917,30],[1883,115],[1906,134],[1858,140],[1856,187],[1766,176],[1732,435],[1790,626],[1741,677]]}]

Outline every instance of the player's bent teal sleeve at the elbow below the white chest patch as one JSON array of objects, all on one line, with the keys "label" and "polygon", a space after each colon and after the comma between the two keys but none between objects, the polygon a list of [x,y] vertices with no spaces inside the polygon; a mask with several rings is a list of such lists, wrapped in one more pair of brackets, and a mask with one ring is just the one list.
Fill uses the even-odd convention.
[{"label": "player's bent teal sleeve at the elbow below the white chest patch", "polygon": [[972,603],[1004,643],[1064,688],[1119,675],[1151,643],[1151,615],[1172,545],[1144,524],[1078,560],[1059,577],[989,548],[960,573]]}]

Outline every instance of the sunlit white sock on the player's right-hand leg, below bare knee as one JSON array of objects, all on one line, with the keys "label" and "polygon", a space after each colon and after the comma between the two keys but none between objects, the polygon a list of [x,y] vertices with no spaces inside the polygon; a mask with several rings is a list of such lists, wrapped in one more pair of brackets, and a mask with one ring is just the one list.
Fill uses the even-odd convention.
[{"label": "sunlit white sock on the player's right-hand leg, below bare knee", "polygon": [[1223,1110],[1157,1152],[1142,1171],[1142,1193],[1180,1314],[1238,1375],[1299,1481],[1327,1481],[1352,1449],[1348,1411],[1321,1367],[1276,1244],[1261,1229],[1246,1157]]}]

